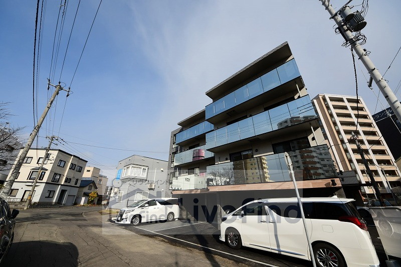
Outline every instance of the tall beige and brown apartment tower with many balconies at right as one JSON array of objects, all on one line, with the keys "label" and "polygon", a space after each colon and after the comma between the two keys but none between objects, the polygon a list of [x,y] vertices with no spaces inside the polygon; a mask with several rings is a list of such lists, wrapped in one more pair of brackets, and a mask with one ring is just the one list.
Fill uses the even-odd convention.
[{"label": "tall beige and brown apartment tower with many balconies at right", "polygon": [[389,187],[401,185],[401,173],[363,100],[354,96],[322,94],[313,99],[313,104],[321,118],[324,138],[329,143],[338,170],[354,170],[362,185],[361,195],[375,197],[355,141],[350,139],[353,132],[358,135],[358,142],[380,192],[391,197]]}]

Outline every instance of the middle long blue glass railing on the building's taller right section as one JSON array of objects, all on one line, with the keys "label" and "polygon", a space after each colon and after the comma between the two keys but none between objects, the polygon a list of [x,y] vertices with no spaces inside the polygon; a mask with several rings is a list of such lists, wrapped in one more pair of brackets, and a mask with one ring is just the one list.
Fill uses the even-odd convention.
[{"label": "middle long blue glass railing on the building's taller right section", "polygon": [[308,95],[206,134],[206,149],[316,118]]}]

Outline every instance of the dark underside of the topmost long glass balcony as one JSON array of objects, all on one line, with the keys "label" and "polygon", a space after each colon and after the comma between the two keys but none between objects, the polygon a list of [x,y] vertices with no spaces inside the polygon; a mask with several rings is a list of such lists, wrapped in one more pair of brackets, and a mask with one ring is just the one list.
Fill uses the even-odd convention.
[{"label": "dark underside of the topmost long glass balcony", "polygon": [[251,98],[245,101],[244,103],[238,104],[237,106],[234,106],[231,109],[228,109],[222,113],[219,113],[207,119],[207,121],[212,124],[217,124],[221,121],[230,120],[230,118],[232,118],[233,116],[237,116],[238,114],[250,110],[256,106],[268,103],[269,101],[279,98],[280,96],[290,93],[293,93],[293,95],[295,96],[296,94],[298,94],[298,90],[296,87],[297,85],[300,90],[305,87],[304,81],[302,80],[302,76],[299,76],[285,84],[279,85],[278,87],[269,90],[259,96]]}]

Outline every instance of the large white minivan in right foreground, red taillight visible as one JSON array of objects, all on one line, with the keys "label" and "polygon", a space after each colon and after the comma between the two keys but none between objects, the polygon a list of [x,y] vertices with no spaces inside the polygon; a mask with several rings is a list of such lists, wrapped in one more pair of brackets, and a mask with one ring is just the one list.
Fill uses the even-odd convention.
[{"label": "large white minivan in right foreground, red taillight visible", "polygon": [[[367,226],[348,198],[301,198],[316,265],[379,266]],[[297,198],[249,202],[225,215],[220,239],[306,260],[309,246]]]}]

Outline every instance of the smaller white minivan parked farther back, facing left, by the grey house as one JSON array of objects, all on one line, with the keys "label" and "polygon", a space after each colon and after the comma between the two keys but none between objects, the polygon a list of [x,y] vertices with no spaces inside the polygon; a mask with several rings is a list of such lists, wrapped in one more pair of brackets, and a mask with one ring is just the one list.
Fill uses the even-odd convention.
[{"label": "smaller white minivan parked farther back, facing left, by the grey house", "polygon": [[154,198],[137,200],[133,204],[120,209],[116,223],[137,225],[140,222],[167,220],[178,218],[177,198]]}]

